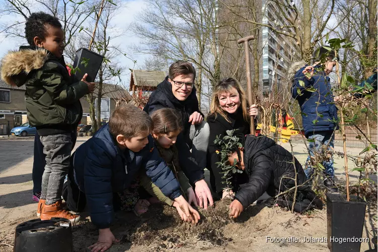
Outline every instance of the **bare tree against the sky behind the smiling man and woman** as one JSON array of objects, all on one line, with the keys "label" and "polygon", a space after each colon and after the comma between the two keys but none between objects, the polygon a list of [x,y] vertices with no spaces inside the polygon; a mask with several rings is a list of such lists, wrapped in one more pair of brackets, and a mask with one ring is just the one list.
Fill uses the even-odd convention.
[{"label": "bare tree against the sky behind the smiling man and woman", "polygon": [[197,67],[197,96],[201,102],[203,78],[215,84],[220,76],[222,50],[218,41],[215,0],[148,0],[132,30],[142,38],[138,52],[172,62],[190,60]]}]

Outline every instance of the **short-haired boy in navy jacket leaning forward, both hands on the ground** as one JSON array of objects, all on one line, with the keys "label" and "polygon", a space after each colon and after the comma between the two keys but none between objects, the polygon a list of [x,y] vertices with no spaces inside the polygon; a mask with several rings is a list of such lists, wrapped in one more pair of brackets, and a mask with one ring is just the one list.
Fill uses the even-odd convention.
[{"label": "short-haired boy in navy jacket leaning forward, both hands on the ground", "polygon": [[[110,231],[113,193],[127,189],[138,172],[146,172],[161,192],[184,210],[184,220],[197,223],[200,215],[181,196],[180,185],[159,156],[150,136],[152,121],[133,105],[117,107],[110,120],[72,155],[67,206],[80,212],[88,204],[91,221],[99,228],[92,252],[105,251],[116,241]],[[186,218],[185,218],[186,217]]]}]

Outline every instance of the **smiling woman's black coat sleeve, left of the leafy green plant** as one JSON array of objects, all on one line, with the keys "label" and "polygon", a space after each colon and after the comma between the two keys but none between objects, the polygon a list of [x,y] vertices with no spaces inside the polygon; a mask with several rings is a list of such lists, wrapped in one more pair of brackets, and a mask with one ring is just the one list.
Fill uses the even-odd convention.
[{"label": "smiling woman's black coat sleeve, left of the leafy green plant", "polygon": [[[219,115],[218,115],[219,116]],[[223,178],[223,172],[220,167],[216,164],[220,162],[220,157],[216,153],[219,148],[214,144],[214,140],[217,136],[224,136],[226,131],[229,130],[221,123],[215,119],[214,115],[210,115],[207,119],[210,127],[210,136],[209,136],[209,147],[208,147],[208,167],[212,170],[215,181],[216,193],[221,193],[226,185],[226,178]]]}]

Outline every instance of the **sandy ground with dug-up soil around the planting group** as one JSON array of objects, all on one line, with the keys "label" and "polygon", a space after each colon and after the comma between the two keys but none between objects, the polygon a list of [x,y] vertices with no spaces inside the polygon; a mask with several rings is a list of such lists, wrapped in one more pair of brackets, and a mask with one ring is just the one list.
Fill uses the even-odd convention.
[{"label": "sandy ground with dug-up soil around the planting group", "polygon": [[[87,139],[88,137],[78,138],[76,147]],[[289,144],[283,146],[290,150]],[[336,147],[336,150],[342,151],[340,147]],[[349,154],[356,155],[360,151],[361,149],[348,148]],[[303,164],[306,159],[303,144],[294,144],[294,154]],[[32,164],[32,138],[0,141],[0,251],[12,251],[17,224],[36,218],[37,204],[31,200]],[[340,183],[344,179],[343,164],[342,158],[335,157],[335,173]],[[350,169],[352,168],[350,163]],[[351,172],[352,184],[357,181],[357,176],[357,172]],[[376,181],[376,176],[372,179]],[[155,208],[157,210],[152,210],[142,218],[136,218],[129,213],[120,214],[113,232],[121,242],[113,245],[110,251],[328,251],[327,242],[303,242],[305,236],[327,237],[325,209],[313,211],[310,215],[298,215],[278,207],[258,204],[249,207],[236,222],[223,217],[219,220],[214,214],[203,213],[203,222],[193,227],[170,221],[176,216],[172,209]],[[375,201],[366,208],[363,237],[371,238],[376,235],[376,216],[375,197]],[[161,224],[157,225],[157,220]],[[208,223],[218,223],[218,226],[209,226]],[[199,230],[205,230],[205,233]],[[98,234],[89,221],[74,227],[73,232],[75,251],[86,251],[85,247],[93,243]],[[138,237],[133,236],[133,233]],[[150,236],[155,238],[148,241]],[[271,242],[267,241],[267,236],[294,236],[301,242]],[[361,251],[372,248],[371,242],[361,244]]]}]

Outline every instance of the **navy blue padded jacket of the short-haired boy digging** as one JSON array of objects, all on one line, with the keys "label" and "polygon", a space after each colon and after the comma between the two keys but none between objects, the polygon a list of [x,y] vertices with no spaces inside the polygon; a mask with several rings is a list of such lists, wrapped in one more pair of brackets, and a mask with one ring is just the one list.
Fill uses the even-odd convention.
[{"label": "navy blue padded jacket of the short-haired boy digging", "polygon": [[113,193],[128,188],[139,171],[144,170],[168,198],[181,195],[180,185],[159,156],[153,138],[149,136],[148,140],[139,152],[121,150],[105,124],[73,154],[75,181],[85,193],[92,223],[98,228],[109,227],[113,221]]}]

